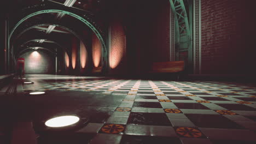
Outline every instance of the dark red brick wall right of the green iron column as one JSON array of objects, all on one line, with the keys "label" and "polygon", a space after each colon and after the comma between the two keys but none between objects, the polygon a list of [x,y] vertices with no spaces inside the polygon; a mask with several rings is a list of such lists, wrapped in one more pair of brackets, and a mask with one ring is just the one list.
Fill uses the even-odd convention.
[{"label": "dark red brick wall right of the green iron column", "polygon": [[255,58],[248,57],[254,57],[252,51],[255,53],[255,50],[248,45],[253,31],[251,34],[247,31],[255,16],[248,16],[252,14],[247,9],[254,11],[248,2],[201,1],[202,74],[251,73]]}]

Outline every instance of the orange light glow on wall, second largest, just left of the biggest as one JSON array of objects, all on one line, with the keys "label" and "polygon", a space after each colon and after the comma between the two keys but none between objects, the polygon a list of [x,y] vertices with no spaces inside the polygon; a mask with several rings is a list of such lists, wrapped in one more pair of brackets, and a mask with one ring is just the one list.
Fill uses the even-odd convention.
[{"label": "orange light glow on wall, second largest, just left of the biggest", "polygon": [[94,67],[98,67],[101,63],[101,42],[95,34],[92,35],[92,59]]}]

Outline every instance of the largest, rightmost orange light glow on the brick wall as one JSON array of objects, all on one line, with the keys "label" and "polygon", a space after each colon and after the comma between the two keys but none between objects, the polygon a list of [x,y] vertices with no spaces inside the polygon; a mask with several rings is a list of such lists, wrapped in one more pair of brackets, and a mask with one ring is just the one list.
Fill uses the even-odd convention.
[{"label": "largest, rightmost orange light glow on the brick wall", "polygon": [[116,68],[124,57],[125,53],[125,34],[120,22],[114,22],[110,26],[110,55],[109,66]]}]

